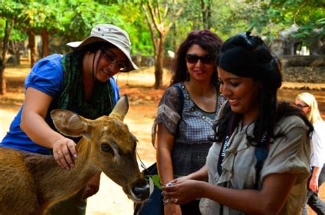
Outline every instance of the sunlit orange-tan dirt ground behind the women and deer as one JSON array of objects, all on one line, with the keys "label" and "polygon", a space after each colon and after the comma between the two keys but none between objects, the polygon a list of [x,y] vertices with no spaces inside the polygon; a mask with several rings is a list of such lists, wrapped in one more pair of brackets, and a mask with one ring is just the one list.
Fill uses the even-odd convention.
[{"label": "sunlit orange-tan dirt ground behind the women and deer", "polygon": [[[156,151],[151,144],[151,129],[156,114],[158,101],[164,90],[154,90],[154,69],[143,68],[128,74],[117,76],[117,83],[121,94],[128,94],[130,110],[125,117],[130,131],[138,138],[137,151],[139,157],[149,166],[155,161]],[[29,72],[29,64],[23,62],[21,66],[8,66],[5,70],[8,91],[0,96],[0,140],[8,131],[12,118],[16,116],[23,102],[23,81]],[[164,83],[169,83],[169,72],[165,71]],[[311,92],[317,98],[323,118],[325,118],[325,84],[284,83],[279,92],[280,99],[294,101],[296,94]],[[322,199],[325,199],[325,186],[320,190]],[[132,201],[122,189],[112,182],[106,175],[101,176],[101,186],[95,196],[88,199],[87,215],[101,214],[132,214]],[[312,214],[312,213],[310,213]],[[315,213],[314,213],[315,214]]]}]

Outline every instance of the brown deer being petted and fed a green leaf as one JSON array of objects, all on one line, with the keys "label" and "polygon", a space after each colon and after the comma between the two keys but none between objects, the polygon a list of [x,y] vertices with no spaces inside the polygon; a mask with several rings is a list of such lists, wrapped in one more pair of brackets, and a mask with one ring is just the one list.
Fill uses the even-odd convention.
[{"label": "brown deer being petted and fed a green leaf", "polygon": [[123,188],[129,199],[141,203],[149,185],[136,162],[136,137],[123,123],[129,109],[124,95],[109,116],[95,120],[69,110],[53,110],[56,129],[81,137],[71,170],[63,170],[53,155],[0,147],[0,214],[45,214],[49,207],[79,192],[102,171]]}]

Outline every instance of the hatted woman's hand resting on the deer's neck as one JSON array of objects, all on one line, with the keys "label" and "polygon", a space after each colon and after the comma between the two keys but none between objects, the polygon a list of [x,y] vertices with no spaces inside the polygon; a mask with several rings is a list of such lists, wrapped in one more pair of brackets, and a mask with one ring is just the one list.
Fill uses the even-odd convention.
[{"label": "hatted woman's hand resting on the deer's neck", "polygon": [[69,170],[73,168],[73,160],[77,158],[77,151],[75,149],[75,142],[69,138],[59,138],[53,144],[53,155],[56,163],[61,166],[61,168],[66,168]]}]

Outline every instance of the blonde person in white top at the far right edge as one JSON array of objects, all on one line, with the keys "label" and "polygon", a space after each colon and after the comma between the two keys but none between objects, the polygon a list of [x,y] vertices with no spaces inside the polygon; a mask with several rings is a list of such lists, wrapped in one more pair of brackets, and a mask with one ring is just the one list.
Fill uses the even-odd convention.
[{"label": "blonde person in white top at the far right edge", "polygon": [[325,122],[320,116],[313,94],[302,92],[297,95],[295,103],[314,127],[311,136],[311,177],[307,181],[307,197],[302,207],[302,214],[308,214],[307,204],[317,214],[325,214],[325,203],[318,197],[318,190],[325,181]]}]

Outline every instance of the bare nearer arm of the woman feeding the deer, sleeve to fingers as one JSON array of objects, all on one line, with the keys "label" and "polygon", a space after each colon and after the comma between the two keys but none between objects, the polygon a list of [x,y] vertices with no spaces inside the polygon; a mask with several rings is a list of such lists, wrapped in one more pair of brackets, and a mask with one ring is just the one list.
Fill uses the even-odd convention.
[{"label": "bare nearer arm of the woman feeding the deer, sleeve to fingers", "polygon": [[187,180],[163,188],[163,195],[177,198],[180,204],[204,197],[245,214],[277,214],[297,177],[291,173],[268,175],[263,181],[262,190],[236,190],[204,181]]}]

